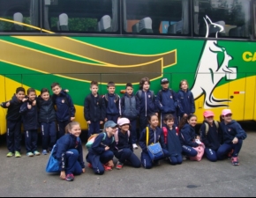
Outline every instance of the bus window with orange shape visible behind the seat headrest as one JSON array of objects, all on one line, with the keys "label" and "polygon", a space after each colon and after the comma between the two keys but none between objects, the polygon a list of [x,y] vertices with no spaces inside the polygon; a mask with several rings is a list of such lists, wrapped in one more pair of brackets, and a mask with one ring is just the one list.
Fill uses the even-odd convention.
[{"label": "bus window with orange shape visible behind the seat headrest", "polygon": [[124,0],[123,9],[125,33],[190,33],[189,0]]}]

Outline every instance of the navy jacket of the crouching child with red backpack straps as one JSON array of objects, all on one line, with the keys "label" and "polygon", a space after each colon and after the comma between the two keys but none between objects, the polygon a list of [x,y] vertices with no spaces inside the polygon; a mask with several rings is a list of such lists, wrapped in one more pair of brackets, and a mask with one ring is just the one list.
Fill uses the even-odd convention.
[{"label": "navy jacket of the crouching child with red backpack straps", "polygon": [[172,129],[170,130],[169,127],[164,126],[167,128],[167,143],[166,148],[169,151],[170,156],[177,156],[182,154],[182,146],[179,140],[179,136],[177,136],[176,126],[173,125]]}]

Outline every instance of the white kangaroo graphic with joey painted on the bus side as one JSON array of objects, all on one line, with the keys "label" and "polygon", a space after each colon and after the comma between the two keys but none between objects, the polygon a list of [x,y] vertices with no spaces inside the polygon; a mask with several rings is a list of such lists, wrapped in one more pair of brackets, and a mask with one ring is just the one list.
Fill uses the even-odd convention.
[{"label": "white kangaroo graphic with joey painted on the bus side", "polygon": [[[215,38],[218,38],[218,33],[224,31],[224,27],[220,24],[213,23],[210,18],[204,18],[207,26],[206,38],[209,36],[210,27],[217,29]],[[222,53],[224,59],[220,64],[217,59],[218,53]],[[214,96],[215,87],[226,77],[227,80],[237,78],[237,68],[229,67],[229,62],[232,56],[228,54],[226,48],[218,45],[217,40],[207,40],[200,57],[200,62],[195,75],[195,82],[192,86],[192,93],[195,99],[205,95],[204,108],[214,108],[228,106],[229,99],[216,99]]]}]

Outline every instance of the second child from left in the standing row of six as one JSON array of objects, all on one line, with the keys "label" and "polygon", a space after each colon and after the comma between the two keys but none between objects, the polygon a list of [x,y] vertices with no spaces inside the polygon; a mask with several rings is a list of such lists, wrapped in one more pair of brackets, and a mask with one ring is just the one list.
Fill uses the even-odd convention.
[{"label": "second child from left in the standing row of six", "polygon": [[121,116],[120,97],[115,93],[116,85],[113,82],[109,82],[107,87],[108,93],[103,96],[106,105],[105,121],[117,123],[118,118]]}]

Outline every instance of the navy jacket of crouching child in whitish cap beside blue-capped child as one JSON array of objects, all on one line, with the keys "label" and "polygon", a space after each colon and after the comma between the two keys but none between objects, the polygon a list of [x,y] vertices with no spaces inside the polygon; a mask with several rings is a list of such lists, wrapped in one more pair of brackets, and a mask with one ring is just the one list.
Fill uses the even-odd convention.
[{"label": "navy jacket of crouching child in whitish cap beside blue-capped child", "polygon": [[133,151],[132,147],[132,137],[131,137],[131,132],[130,136],[128,136],[128,132],[125,134],[121,132],[121,129],[119,128],[118,130],[118,143],[115,143],[115,149],[114,151],[121,151],[123,149],[131,149]]}]

